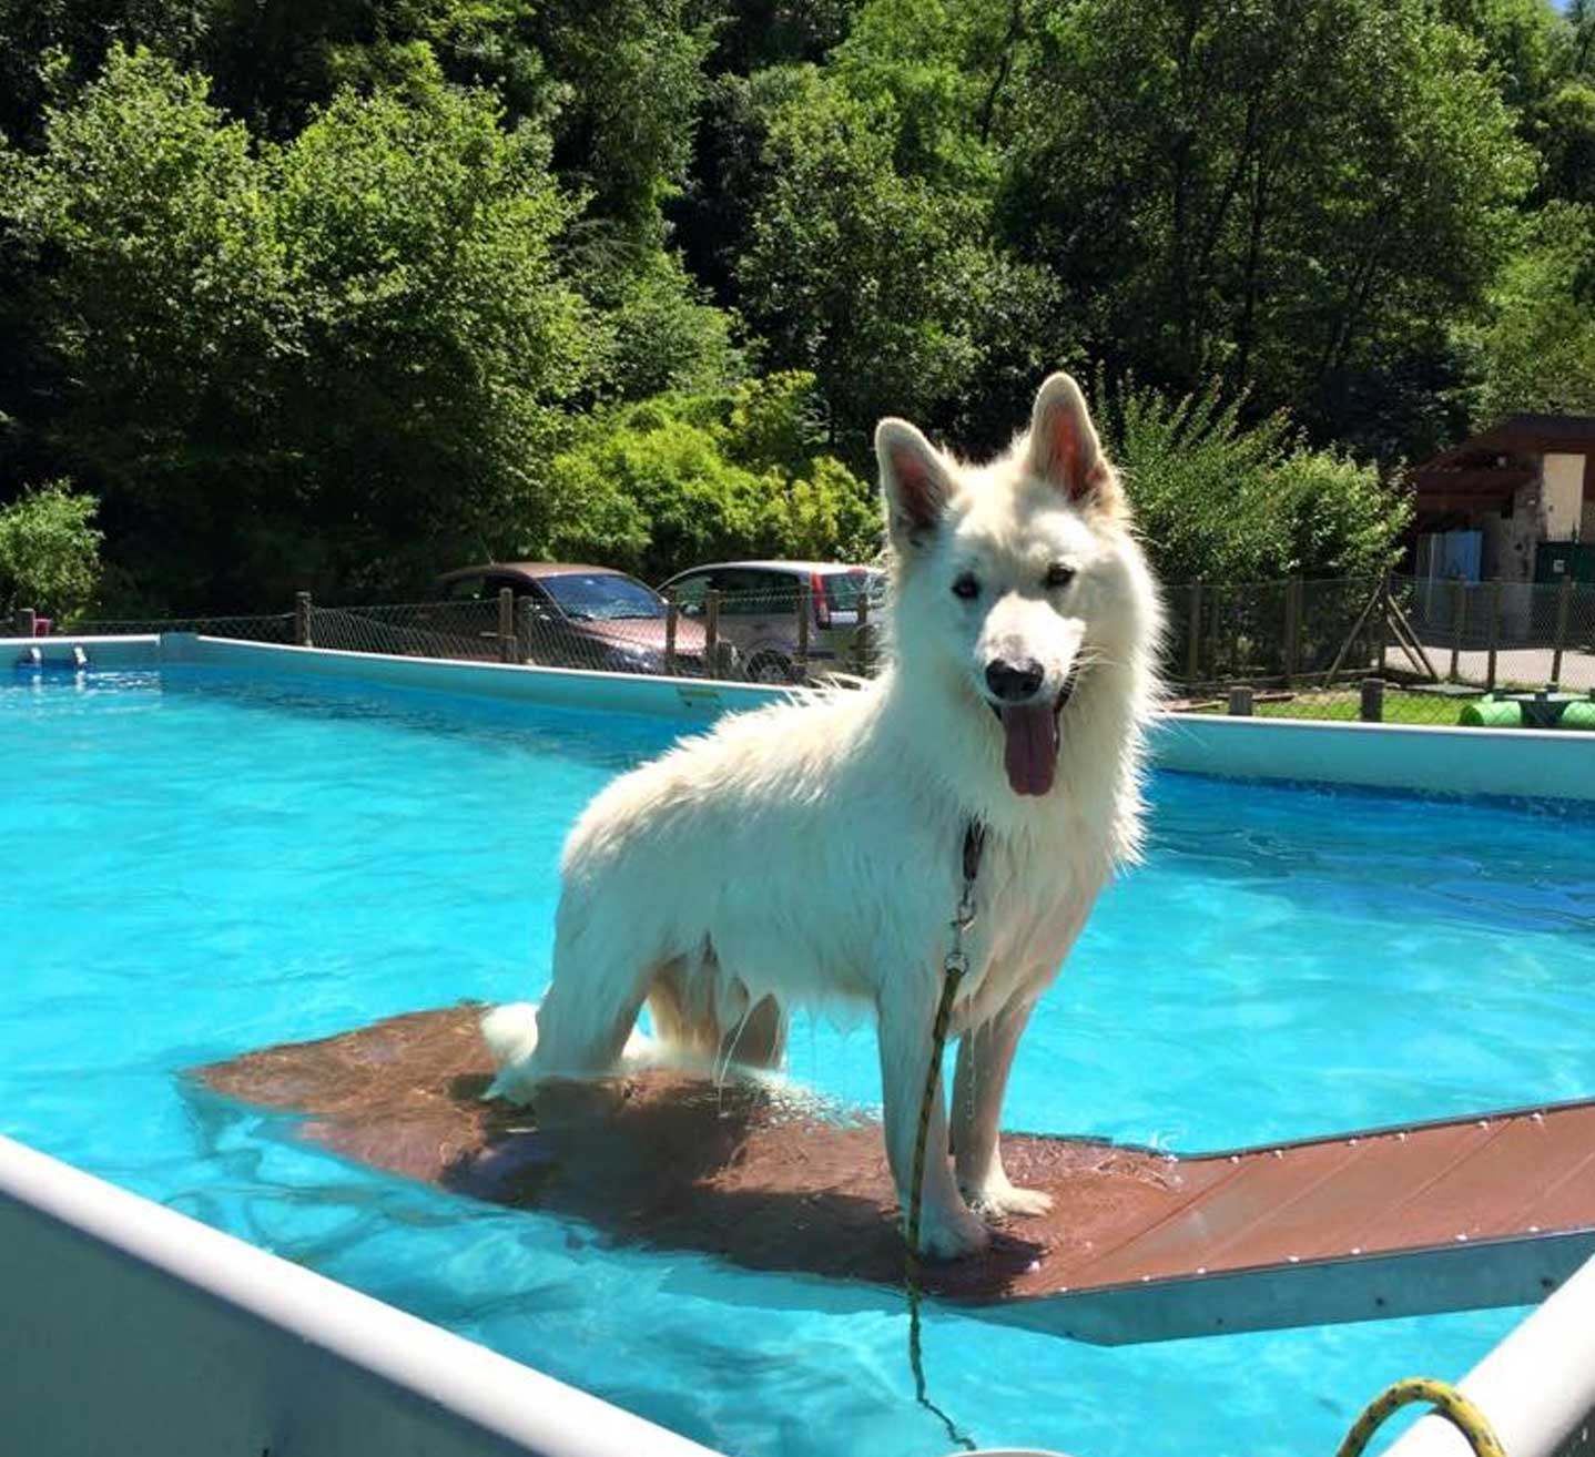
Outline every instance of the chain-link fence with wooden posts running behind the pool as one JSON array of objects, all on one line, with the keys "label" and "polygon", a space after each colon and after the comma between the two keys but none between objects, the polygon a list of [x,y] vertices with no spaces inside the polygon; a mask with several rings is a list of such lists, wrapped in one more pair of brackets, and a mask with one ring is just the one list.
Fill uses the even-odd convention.
[{"label": "chain-link fence with wooden posts running behind the pool", "polygon": [[[1163,671],[1179,708],[1407,724],[1595,727],[1595,585],[1410,577],[1176,583]],[[884,603],[807,583],[568,609],[506,588],[461,601],[75,623],[600,673],[855,682],[884,662]],[[29,614],[30,617],[30,614]],[[21,631],[21,628],[19,628]]]}]

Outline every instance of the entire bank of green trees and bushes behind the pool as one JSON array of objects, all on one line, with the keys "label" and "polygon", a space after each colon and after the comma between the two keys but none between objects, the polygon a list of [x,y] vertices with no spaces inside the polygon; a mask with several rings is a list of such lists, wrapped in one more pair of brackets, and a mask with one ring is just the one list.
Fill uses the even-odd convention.
[{"label": "entire bank of green trees and bushes behind the pool", "polygon": [[1361,569],[1595,408],[1590,207],[1590,0],[0,0],[0,473],[152,611],[860,556],[1094,359],[1169,574]]}]

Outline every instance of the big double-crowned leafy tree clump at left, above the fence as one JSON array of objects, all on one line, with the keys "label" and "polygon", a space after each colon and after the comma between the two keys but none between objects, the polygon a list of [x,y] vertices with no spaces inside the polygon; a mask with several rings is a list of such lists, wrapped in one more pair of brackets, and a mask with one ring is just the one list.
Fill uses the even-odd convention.
[{"label": "big double-crowned leafy tree clump at left, above the fence", "polygon": [[53,435],[123,555],[183,606],[252,606],[408,588],[545,523],[593,349],[545,140],[435,88],[345,94],[252,148],[204,92],[113,51],[0,174],[73,381]]}]

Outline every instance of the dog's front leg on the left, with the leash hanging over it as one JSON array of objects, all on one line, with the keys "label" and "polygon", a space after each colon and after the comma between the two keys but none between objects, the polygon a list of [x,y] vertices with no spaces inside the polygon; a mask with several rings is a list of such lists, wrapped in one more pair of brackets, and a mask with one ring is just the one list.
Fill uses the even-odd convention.
[{"label": "dog's front leg on the left, with the leash hanging over it", "polygon": [[[908,1227],[909,1192],[914,1178],[914,1143],[919,1137],[919,1109],[925,1095],[930,1065],[935,998],[925,982],[884,992],[877,1003],[880,1019],[880,1090],[885,1117],[887,1160],[903,1205]],[[947,1162],[947,1109],[938,1074],[925,1130],[925,1181],[920,1197],[920,1253],[939,1259],[978,1255],[990,1243],[990,1232],[973,1215],[952,1181]]]}]

